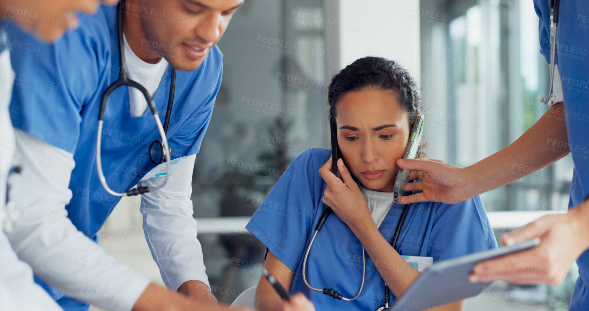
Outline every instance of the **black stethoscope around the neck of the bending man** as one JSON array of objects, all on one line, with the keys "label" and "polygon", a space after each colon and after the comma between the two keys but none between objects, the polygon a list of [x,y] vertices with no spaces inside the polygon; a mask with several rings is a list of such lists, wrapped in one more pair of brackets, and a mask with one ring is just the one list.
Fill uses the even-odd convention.
[{"label": "black stethoscope around the neck of the bending man", "polygon": [[[170,156],[171,156],[171,150],[170,150],[170,146],[168,145],[168,140],[166,138],[166,135],[168,133],[168,126],[170,125],[170,116],[172,113],[172,106],[174,103],[174,90],[176,89],[176,68],[172,68],[171,83],[170,83],[170,97],[168,98],[168,108],[166,110],[166,115],[165,115],[166,120],[164,121],[164,126],[161,126],[160,117],[158,116],[157,109],[155,109],[155,103],[153,102],[153,99],[151,98],[151,95],[149,94],[147,89],[145,89],[145,87],[143,87],[141,84],[139,84],[133,80],[130,80],[127,77],[127,70],[125,68],[125,51],[124,51],[124,45],[123,45],[123,12],[124,12],[123,4],[124,4],[124,1],[122,1],[118,5],[118,21],[117,21],[118,60],[120,63],[120,70],[118,73],[118,80],[115,81],[114,83],[112,83],[107,88],[107,90],[105,90],[104,93],[102,94],[102,99],[100,102],[100,114],[98,116],[98,133],[97,133],[97,142],[96,142],[96,163],[97,163],[97,168],[98,168],[98,178],[100,179],[100,183],[102,184],[104,189],[106,189],[106,191],[109,194],[114,195],[116,197],[124,197],[125,195],[143,194],[145,192],[150,192],[150,191],[160,189],[161,187],[166,185],[166,182],[168,181],[168,175],[170,174]],[[106,178],[104,177],[104,173],[102,172],[102,161],[100,158],[100,145],[101,145],[101,138],[102,138],[102,123],[104,123],[104,110],[107,106],[108,96],[110,96],[112,91],[117,89],[117,87],[121,87],[121,86],[134,87],[135,89],[138,89],[139,91],[141,91],[141,93],[143,93],[143,96],[145,97],[145,100],[147,101],[147,104],[151,109],[151,113],[153,113],[155,123],[157,124],[158,132],[160,132],[161,140],[157,140],[157,139],[154,140],[151,143],[150,150],[149,150],[151,162],[153,162],[155,165],[163,163],[164,161],[167,162],[166,179],[164,179],[164,182],[157,187],[150,188],[147,186],[138,186],[137,188],[130,189],[126,192],[121,192],[121,193],[115,192],[115,191],[112,191],[108,187]]]}]

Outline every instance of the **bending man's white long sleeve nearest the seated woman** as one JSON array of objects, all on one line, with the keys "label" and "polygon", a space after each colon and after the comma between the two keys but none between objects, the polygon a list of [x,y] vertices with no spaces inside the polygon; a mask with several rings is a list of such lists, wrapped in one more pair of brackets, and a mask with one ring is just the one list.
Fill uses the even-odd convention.
[{"label": "bending man's white long sleeve nearest the seated woman", "polygon": [[[196,155],[186,156],[178,162],[166,185],[142,194],[145,240],[164,283],[172,290],[188,280],[199,280],[209,286],[190,200],[195,160]],[[140,186],[157,186],[163,179],[147,179]]]}]

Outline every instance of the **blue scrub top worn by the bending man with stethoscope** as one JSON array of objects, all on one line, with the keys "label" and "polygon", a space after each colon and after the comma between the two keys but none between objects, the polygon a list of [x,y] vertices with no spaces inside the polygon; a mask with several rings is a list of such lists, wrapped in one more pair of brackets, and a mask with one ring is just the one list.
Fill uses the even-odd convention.
[{"label": "blue scrub top worn by the bending man with stethoscope", "polygon": [[[80,28],[68,31],[55,44],[39,42],[8,23],[11,38],[34,44],[42,53],[12,54],[16,71],[12,92],[12,123],[51,145],[74,154],[70,189],[65,208],[68,217],[88,237],[97,232],[119,197],[108,194],[98,179],[96,132],[102,93],[118,80],[117,7],[101,6],[97,14],[81,16]],[[172,158],[198,153],[209,126],[221,84],[222,54],[214,47],[194,71],[177,72],[168,142]],[[154,102],[164,123],[170,94],[168,66]],[[149,148],[160,139],[151,111],[131,117],[128,88],[119,87],[108,99],[102,130],[102,168],[108,185],[117,192],[133,188],[154,164]],[[61,293],[49,289],[56,299]]]}]

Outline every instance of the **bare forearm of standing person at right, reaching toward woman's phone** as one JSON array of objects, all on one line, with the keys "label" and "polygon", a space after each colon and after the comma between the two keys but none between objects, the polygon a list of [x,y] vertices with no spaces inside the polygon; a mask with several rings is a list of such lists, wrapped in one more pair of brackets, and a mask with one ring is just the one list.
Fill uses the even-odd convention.
[{"label": "bare forearm of standing person at right, reaching toward woman's phone", "polygon": [[466,169],[475,187],[471,197],[516,181],[570,152],[564,105],[557,103],[511,145]]}]

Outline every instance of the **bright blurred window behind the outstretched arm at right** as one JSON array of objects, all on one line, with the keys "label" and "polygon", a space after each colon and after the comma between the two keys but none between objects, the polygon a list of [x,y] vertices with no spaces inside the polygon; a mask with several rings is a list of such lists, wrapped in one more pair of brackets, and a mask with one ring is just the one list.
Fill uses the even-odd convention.
[{"label": "bright blurred window behind the outstretched arm at right", "polygon": [[[420,17],[424,132],[437,144],[428,148],[430,158],[471,165],[514,142],[547,110],[536,102],[538,95],[546,96],[549,72],[540,54],[532,0],[422,0]],[[516,162],[513,168],[518,176],[535,170]],[[527,211],[537,217],[545,211],[566,211],[572,175],[573,161],[567,156],[482,194],[489,218],[495,216],[496,236],[510,229],[502,220],[524,214],[495,211]],[[502,307],[487,300],[524,308],[549,302],[568,308],[577,277],[573,271],[558,287],[493,283],[467,309]],[[507,289],[509,294],[493,296],[494,290]]]}]

